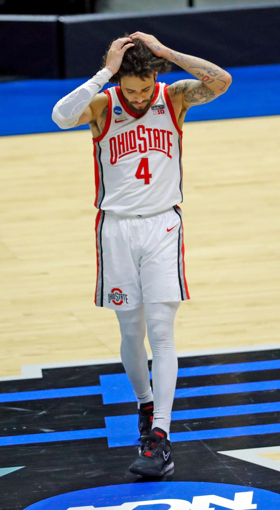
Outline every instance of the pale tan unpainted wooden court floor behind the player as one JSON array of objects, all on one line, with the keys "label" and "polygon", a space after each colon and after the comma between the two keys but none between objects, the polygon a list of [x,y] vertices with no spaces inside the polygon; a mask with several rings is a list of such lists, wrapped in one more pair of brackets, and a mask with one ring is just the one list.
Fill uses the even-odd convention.
[{"label": "pale tan unpainted wooden court floor behind the player", "polygon": [[[279,341],[279,116],[184,124],[186,276],[178,351]],[[1,376],[115,358],[113,311],[94,306],[89,131],[0,138]]]}]

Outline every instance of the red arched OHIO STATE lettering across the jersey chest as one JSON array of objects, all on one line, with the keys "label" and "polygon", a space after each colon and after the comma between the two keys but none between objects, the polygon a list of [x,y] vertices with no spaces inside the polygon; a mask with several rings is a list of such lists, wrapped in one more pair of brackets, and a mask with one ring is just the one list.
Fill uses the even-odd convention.
[{"label": "red arched OHIO STATE lettering across the jersey chest", "polygon": [[172,159],[170,154],[172,131],[137,126],[136,130],[125,131],[117,136],[112,136],[110,142],[110,163],[114,165],[120,158],[133,152],[146,153],[148,150],[158,150]]}]

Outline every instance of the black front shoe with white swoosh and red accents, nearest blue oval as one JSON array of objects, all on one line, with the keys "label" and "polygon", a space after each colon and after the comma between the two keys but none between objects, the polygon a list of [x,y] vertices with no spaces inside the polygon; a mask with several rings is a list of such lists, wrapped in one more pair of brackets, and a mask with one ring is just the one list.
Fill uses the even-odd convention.
[{"label": "black front shoe with white swoosh and red accents, nearest blue oval", "polygon": [[130,466],[130,472],[142,476],[163,476],[173,470],[171,443],[161,428],[153,428],[146,440],[143,451]]}]

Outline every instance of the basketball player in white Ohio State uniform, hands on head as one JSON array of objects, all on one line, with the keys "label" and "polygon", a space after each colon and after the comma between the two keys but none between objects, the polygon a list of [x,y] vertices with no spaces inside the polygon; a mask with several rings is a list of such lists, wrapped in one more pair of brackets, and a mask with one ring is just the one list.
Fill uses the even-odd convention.
[{"label": "basketball player in white Ohio State uniform, hands on head", "polygon": [[[196,80],[158,83],[158,72],[169,71],[169,62]],[[97,94],[107,82],[119,85]],[[113,41],[103,69],[53,110],[62,129],[89,123],[93,135],[95,303],[115,310],[119,321],[121,359],[139,414],[141,449],[130,471],[140,475],[173,469],[169,427],[178,366],[173,324],[180,302],[189,299],[177,206],[183,200],[182,126],[190,107],[216,99],[231,82],[217,65],[135,32]]]}]

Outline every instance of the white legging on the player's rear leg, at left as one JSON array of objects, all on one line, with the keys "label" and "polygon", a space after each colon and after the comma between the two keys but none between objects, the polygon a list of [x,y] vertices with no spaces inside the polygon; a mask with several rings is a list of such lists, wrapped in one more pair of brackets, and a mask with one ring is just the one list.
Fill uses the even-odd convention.
[{"label": "white legging on the player's rear leg, at left", "polygon": [[146,334],[144,305],[134,310],[117,310],[116,315],[121,332],[121,361],[134,389],[139,409],[140,404],[153,400],[148,357],[144,345]]}]

